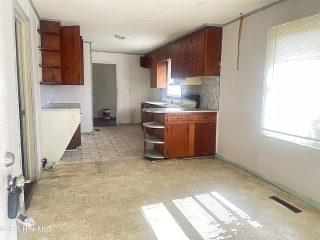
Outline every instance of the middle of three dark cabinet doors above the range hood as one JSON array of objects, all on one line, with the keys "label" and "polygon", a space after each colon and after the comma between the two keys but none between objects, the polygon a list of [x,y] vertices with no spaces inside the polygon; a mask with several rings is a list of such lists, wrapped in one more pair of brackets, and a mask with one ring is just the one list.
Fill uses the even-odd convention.
[{"label": "middle of three dark cabinet doors above the range hood", "polygon": [[192,76],[192,38],[180,41],[180,77]]}]

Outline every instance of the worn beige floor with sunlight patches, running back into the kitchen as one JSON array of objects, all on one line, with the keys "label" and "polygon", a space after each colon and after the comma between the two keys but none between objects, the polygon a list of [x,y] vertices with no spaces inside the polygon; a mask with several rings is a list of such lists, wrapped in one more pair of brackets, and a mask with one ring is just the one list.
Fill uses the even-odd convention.
[{"label": "worn beige floor with sunlight patches, running back into the kitchen", "polygon": [[320,239],[320,212],[278,188],[213,157],[145,159],[139,126],[100,129],[43,171],[18,239]]}]

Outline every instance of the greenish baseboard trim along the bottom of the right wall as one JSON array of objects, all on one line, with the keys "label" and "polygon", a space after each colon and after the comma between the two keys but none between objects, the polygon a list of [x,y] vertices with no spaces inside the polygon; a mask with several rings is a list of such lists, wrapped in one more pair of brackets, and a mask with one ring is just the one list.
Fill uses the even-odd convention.
[{"label": "greenish baseboard trim along the bottom of the right wall", "polygon": [[236,167],[242,169],[243,171],[246,171],[247,173],[250,173],[251,175],[256,176],[257,178],[259,178],[259,179],[261,179],[261,180],[263,180],[263,181],[265,181],[265,182],[267,182],[267,183],[269,183],[269,184],[281,189],[282,191],[294,196],[295,198],[305,202],[306,204],[314,207],[315,209],[320,210],[320,203],[312,200],[311,198],[309,198],[307,196],[304,196],[304,195],[302,195],[302,194],[300,194],[300,193],[298,193],[298,192],[296,192],[296,191],[294,191],[294,190],[292,190],[292,189],[290,189],[290,188],[288,188],[288,187],[286,187],[286,186],[284,186],[284,185],[282,185],[282,184],[280,184],[280,183],[278,183],[276,181],[268,179],[268,178],[260,175],[259,173],[255,172],[255,171],[252,171],[249,168],[246,168],[245,166],[242,166],[239,163],[231,161],[231,160],[229,160],[229,159],[227,159],[227,158],[225,158],[225,157],[223,157],[223,156],[221,156],[219,154],[214,154],[213,157],[218,158],[218,159],[220,159],[220,160],[222,160],[224,162],[227,162],[227,163],[229,163],[229,164],[231,164],[233,166],[236,166]]}]

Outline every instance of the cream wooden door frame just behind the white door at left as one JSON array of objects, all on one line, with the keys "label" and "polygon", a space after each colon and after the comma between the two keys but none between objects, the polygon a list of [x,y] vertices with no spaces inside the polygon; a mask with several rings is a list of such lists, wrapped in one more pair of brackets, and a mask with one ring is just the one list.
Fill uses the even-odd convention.
[{"label": "cream wooden door frame just behind the white door at left", "polygon": [[[38,179],[37,150],[36,150],[36,129],[35,129],[35,107],[33,95],[33,77],[32,77],[32,57],[30,47],[30,20],[21,7],[14,3],[14,24],[17,23],[19,33],[17,38],[17,45],[14,48],[17,53],[16,61],[16,80],[17,91],[21,96],[21,109],[19,107],[20,120],[22,119],[22,129],[19,126],[21,136],[21,157],[24,159],[24,176],[25,179],[34,181]],[[16,31],[14,31],[16,34]],[[19,74],[19,76],[18,76]],[[19,79],[18,79],[19,78]],[[24,111],[24,114],[22,113]],[[22,150],[23,149],[23,150]],[[23,154],[23,155],[22,155]],[[21,158],[22,159],[22,158]],[[22,162],[21,162],[22,166]]]}]

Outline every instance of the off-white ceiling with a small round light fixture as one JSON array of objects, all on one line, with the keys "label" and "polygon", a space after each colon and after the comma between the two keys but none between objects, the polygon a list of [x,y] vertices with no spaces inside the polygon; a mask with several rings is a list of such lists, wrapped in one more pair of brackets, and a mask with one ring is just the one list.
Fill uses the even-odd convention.
[{"label": "off-white ceiling with a small round light fixture", "polygon": [[92,50],[141,54],[205,23],[223,25],[279,0],[31,1],[42,19],[80,25]]}]

